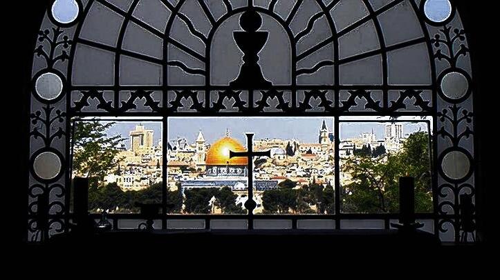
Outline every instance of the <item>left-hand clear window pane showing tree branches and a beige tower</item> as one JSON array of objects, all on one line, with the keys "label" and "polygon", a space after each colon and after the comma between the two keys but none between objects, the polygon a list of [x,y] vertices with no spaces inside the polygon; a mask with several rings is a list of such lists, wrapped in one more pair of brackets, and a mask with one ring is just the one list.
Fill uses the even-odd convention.
[{"label": "left-hand clear window pane showing tree branches and a beige tower", "polygon": [[162,203],[160,121],[73,119],[73,177],[89,178],[89,211],[138,213]]}]

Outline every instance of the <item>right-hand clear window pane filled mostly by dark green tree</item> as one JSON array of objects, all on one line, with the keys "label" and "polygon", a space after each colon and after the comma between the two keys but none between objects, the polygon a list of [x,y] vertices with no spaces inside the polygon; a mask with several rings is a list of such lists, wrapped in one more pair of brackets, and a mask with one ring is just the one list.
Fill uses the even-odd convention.
[{"label": "right-hand clear window pane filled mostly by dark green tree", "polygon": [[399,212],[399,178],[407,175],[415,177],[415,211],[432,212],[430,123],[409,118],[340,123],[342,212]]}]

